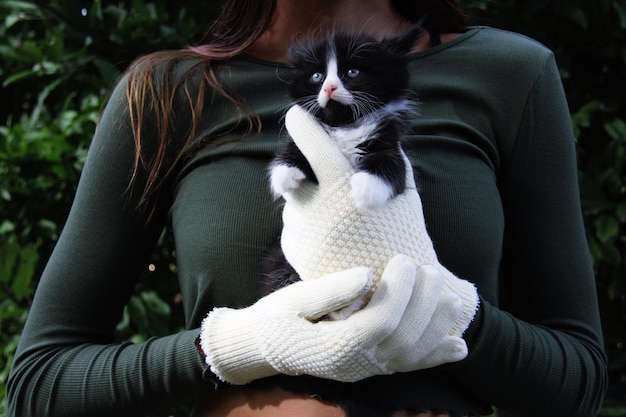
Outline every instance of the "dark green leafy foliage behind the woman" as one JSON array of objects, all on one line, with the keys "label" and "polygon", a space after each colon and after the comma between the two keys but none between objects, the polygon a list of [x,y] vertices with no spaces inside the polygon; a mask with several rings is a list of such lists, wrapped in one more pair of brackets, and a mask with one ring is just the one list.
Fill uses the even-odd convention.
[{"label": "dark green leafy foliage behind the woman", "polygon": [[[462,3],[477,24],[527,34],[556,53],[579,146],[609,355],[601,415],[626,416],[626,2]],[[110,88],[136,57],[194,43],[219,4],[0,0],[0,417],[37,279]],[[182,327],[172,259],[164,235],[118,326],[120,339]]]}]

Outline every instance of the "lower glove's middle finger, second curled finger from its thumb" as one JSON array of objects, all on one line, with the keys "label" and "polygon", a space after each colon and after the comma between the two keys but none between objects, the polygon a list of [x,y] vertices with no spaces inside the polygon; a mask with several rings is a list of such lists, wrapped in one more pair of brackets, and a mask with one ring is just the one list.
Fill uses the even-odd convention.
[{"label": "lower glove's middle finger, second curled finger from its thumb", "polygon": [[[381,360],[405,357],[406,352],[422,351],[418,343],[426,335],[433,315],[442,307],[439,300],[443,284],[443,276],[437,268],[424,265],[417,269],[411,299],[402,320],[396,330],[380,345]],[[430,349],[424,353],[429,351]]]}]

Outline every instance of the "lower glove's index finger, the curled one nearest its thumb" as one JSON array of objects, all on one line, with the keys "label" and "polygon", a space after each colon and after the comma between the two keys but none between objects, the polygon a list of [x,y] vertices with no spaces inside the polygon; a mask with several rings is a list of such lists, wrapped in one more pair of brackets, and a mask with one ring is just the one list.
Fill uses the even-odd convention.
[{"label": "lower glove's index finger, the curled one nearest its thumb", "polygon": [[[389,261],[370,302],[346,323],[361,329],[361,336],[378,344],[391,334],[402,319],[415,282],[415,263],[397,255]],[[340,322],[336,322],[340,323]]]}]

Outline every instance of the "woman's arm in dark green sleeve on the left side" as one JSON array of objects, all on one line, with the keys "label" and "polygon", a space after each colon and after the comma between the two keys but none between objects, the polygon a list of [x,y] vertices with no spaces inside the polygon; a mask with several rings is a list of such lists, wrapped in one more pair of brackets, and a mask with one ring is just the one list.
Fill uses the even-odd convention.
[{"label": "woman's arm in dark green sleeve on the left side", "polygon": [[[134,161],[125,83],[91,145],[69,218],[41,277],[8,381],[11,416],[143,415],[189,395],[203,363],[198,331],[116,344],[115,327],[169,202],[152,221],[128,188]],[[139,178],[134,184],[142,186]]]}]

